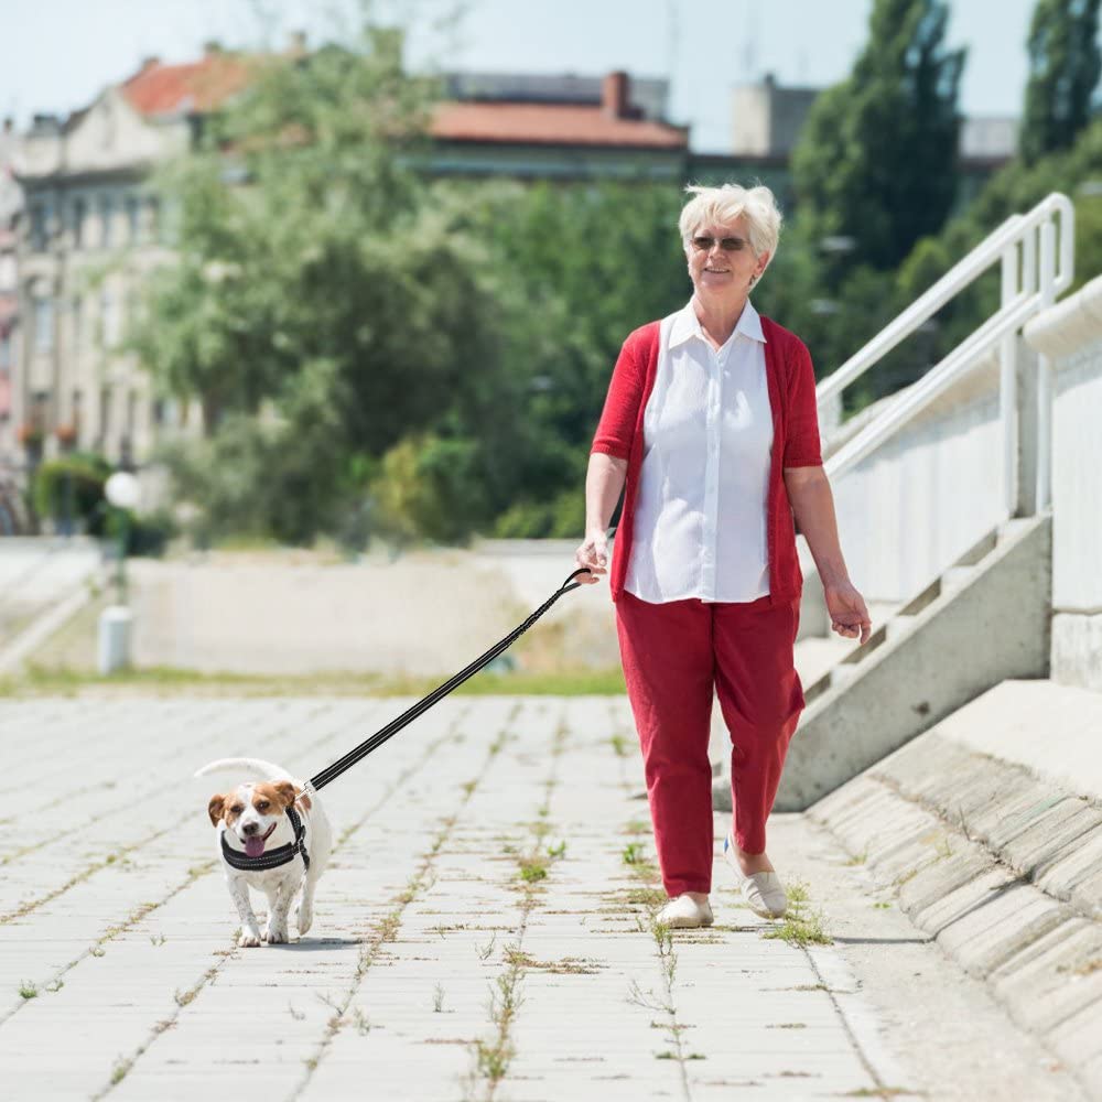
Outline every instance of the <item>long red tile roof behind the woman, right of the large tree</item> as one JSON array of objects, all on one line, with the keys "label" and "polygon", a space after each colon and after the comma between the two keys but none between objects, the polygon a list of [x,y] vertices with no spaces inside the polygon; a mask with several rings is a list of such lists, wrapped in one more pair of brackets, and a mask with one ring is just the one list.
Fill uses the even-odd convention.
[{"label": "long red tile roof behind the woman, right of the large tree", "polygon": [[573,104],[440,104],[431,130],[433,138],[445,141],[651,149],[684,149],[689,144],[684,127],[616,118],[601,107]]}]

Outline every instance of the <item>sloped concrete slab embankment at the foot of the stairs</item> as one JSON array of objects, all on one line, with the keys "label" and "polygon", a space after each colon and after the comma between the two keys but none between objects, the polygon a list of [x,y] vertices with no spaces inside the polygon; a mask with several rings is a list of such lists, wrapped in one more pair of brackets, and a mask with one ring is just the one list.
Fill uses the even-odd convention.
[{"label": "sloped concrete slab embankment at the foot of the stairs", "polygon": [[808,812],[1102,1096],[1102,807],[931,731]]}]

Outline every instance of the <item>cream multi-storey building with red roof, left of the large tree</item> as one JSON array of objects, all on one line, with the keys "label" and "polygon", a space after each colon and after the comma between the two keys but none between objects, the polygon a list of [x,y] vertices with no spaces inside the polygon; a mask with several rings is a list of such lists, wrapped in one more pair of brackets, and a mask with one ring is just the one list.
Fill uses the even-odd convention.
[{"label": "cream multi-storey building with red roof, left of the large tree", "polygon": [[150,173],[186,151],[197,120],[246,83],[239,58],[151,57],[62,121],[37,116],[22,142],[19,235],[23,339],[11,419],[25,464],[72,449],[129,464],[187,408],[162,400],[122,347],[148,273],[171,256]]}]

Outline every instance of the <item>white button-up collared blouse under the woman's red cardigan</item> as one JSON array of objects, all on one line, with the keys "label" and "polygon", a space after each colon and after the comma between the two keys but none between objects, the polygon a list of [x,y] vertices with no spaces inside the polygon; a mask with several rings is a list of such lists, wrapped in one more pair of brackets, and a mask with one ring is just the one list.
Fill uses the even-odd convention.
[{"label": "white button-up collared blouse under the woman's red cardigan", "polygon": [[692,302],[662,320],[624,583],[642,601],[749,602],[769,592],[765,343],[748,301],[720,349]]}]

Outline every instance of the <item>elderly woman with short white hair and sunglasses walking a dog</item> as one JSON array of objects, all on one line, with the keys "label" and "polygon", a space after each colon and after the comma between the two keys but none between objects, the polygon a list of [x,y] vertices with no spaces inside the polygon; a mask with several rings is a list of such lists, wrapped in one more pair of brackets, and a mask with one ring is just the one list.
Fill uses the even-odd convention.
[{"label": "elderly woman with short white hair and sunglasses walking a dog", "polygon": [[803,707],[792,660],[802,576],[796,522],[831,625],[864,642],[822,468],[803,343],[750,304],[777,248],[767,187],[690,187],[679,229],[693,294],[636,329],[616,361],[585,479],[579,566],[607,571],[669,903],[659,920],[709,926],[713,691],[731,734],[734,812],[724,857],[764,917],[788,906],[766,855],[789,739]]}]

